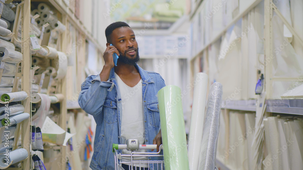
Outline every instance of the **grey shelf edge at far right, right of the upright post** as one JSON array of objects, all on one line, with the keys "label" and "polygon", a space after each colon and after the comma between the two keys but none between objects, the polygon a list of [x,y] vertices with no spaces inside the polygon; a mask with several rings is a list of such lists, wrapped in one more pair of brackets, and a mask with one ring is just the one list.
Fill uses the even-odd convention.
[{"label": "grey shelf edge at far right, right of the upright post", "polygon": [[303,115],[303,99],[266,100],[266,111]]}]

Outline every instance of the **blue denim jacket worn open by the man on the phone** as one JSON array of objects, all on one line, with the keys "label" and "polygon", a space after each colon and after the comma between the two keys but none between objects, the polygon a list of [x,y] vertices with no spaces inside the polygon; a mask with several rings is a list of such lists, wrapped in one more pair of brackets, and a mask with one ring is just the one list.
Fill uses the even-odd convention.
[{"label": "blue denim jacket worn open by the man on the phone", "polygon": [[[160,129],[157,93],[165,86],[165,82],[158,73],[145,71],[138,65],[135,67],[142,79],[145,144],[153,144],[153,139]],[[94,153],[89,166],[93,170],[115,169],[112,144],[125,144],[125,139],[121,137],[122,102],[114,68],[110,72],[108,81],[102,82],[99,75],[91,75],[81,85],[78,103],[86,113],[94,117],[97,123]],[[121,150],[118,150],[119,153]],[[148,157],[148,160],[160,159],[163,158]],[[152,169],[152,164],[150,164],[150,169]]]}]

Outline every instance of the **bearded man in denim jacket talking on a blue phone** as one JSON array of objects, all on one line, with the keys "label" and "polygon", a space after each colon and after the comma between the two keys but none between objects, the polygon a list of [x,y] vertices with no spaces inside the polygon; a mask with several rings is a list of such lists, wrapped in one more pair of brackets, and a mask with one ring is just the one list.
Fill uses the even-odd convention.
[{"label": "bearded man in denim jacket talking on a blue phone", "polygon": [[[128,24],[110,24],[105,30],[105,36],[105,65],[99,75],[86,78],[78,98],[80,107],[93,115],[97,123],[90,164],[93,170],[115,169],[113,143],[125,144],[127,139],[138,139],[140,144],[157,144],[157,152],[162,143],[157,93],[165,86],[164,80],[158,73],[145,71],[137,65],[138,43]],[[113,61],[114,53],[119,56],[117,66]],[[121,154],[130,152],[123,150]],[[130,162],[130,159],[122,161]],[[128,169],[127,165],[122,166]],[[150,164],[149,169],[152,166]],[[145,165],[144,169],[148,167]]]}]

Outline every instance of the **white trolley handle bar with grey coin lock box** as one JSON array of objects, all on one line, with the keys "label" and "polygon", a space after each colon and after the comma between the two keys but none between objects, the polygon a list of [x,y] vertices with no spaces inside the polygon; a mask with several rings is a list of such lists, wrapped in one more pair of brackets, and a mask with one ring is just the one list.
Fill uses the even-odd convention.
[{"label": "white trolley handle bar with grey coin lock box", "polygon": [[[128,151],[137,151],[139,149],[157,149],[157,145],[139,145],[139,140],[133,140],[133,139],[128,139],[126,140],[125,145],[118,145],[113,143],[113,152],[114,149],[127,149]],[[160,147],[160,149],[163,149],[163,146]]]}]

